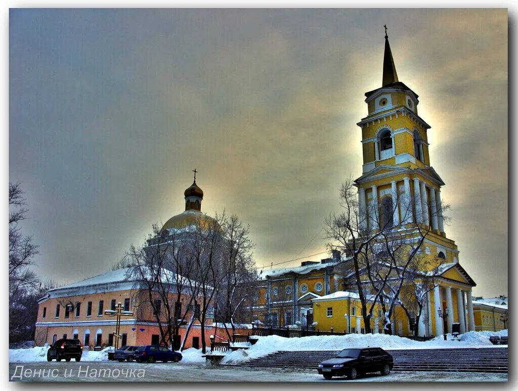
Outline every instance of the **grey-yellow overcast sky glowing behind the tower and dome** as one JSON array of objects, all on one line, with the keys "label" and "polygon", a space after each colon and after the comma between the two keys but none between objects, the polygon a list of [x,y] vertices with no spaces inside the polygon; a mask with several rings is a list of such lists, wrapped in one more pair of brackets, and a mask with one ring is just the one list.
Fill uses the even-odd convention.
[{"label": "grey-yellow overcast sky glowing behind the tower and dome", "polygon": [[249,223],[259,266],[324,251],[338,188],[362,173],[355,124],[387,24],[431,125],[445,231],[474,295],[507,294],[506,10],[15,9],[9,24],[9,180],[44,279],[108,270],[184,210],[194,168],[203,211]]}]

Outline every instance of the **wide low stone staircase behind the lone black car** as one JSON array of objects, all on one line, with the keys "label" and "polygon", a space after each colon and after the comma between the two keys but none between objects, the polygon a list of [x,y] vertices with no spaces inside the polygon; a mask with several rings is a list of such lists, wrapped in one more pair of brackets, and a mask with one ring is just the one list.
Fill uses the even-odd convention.
[{"label": "wide low stone staircase behind the lone black car", "polygon": [[[393,371],[508,372],[508,348],[386,350],[394,357]],[[340,351],[280,351],[237,364],[256,368],[313,369]]]}]

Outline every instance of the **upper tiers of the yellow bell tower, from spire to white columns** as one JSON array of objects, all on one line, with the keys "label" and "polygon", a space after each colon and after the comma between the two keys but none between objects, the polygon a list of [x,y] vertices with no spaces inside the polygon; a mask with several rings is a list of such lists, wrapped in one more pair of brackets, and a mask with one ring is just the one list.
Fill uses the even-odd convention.
[{"label": "upper tiers of the yellow bell tower, from spire to white columns", "polygon": [[382,85],[365,93],[367,116],[357,123],[363,145],[363,175],[356,179],[366,216],[363,228],[416,222],[445,237],[440,208],[444,183],[430,165],[430,126],[418,115],[418,95],[399,81],[384,27]]}]

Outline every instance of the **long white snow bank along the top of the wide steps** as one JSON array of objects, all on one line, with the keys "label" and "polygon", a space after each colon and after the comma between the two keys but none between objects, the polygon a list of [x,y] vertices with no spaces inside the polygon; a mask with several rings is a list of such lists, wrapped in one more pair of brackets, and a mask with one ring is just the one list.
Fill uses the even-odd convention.
[{"label": "long white snow bank along the top of the wide steps", "polygon": [[468,332],[459,336],[461,338],[460,341],[452,340],[451,334],[448,334],[447,341],[444,341],[444,338],[439,336],[426,342],[386,334],[348,334],[301,338],[285,338],[271,335],[258,337],[257,342],[248,350],[238,350],[227,353],[222,363],[239,363],[281,350],[342,350],[367,346],[380,347],[388,350],[491,347],[493,344],[490,342],[489,337],[493,335],[507,335],[507,330],[498,333]]}]

